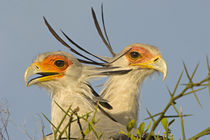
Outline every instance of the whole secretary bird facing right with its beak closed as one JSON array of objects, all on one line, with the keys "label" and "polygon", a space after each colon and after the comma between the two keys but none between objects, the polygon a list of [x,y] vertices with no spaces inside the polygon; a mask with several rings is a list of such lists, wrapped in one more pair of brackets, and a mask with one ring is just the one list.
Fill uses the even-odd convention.
[{"label": "whole secretary bird facing right with its beak closed", "polygon": [[113,107],[107,112],[126,125],[130,120],[138,119],[138,101],[144,79],[155,71],[162,72],[165,79],[167,66],[156,47],[140,43],[127,46],[114,58],[107,60],[111,62],[123,53],[126,54],[111,65],[132,70],[124,75],[110,76],[102,91],[102,97]]}]

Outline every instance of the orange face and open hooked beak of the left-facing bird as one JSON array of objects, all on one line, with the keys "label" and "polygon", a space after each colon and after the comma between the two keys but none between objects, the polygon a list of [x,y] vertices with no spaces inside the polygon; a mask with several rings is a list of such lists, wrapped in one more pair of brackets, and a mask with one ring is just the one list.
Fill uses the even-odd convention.
[{"label": "orange face and open hooked beak of the left-facing bird", "polygon": [[[25,83],[27,86],[44,82],[55,80],[57,78],[62,78],[65,75],[67,68],[72,65],[72,61],[62,55],[49,55],[41,62],[34,62],[31,64],[25,72]],[[34,74],[41,76],[32,78],[28,81],[28,78]]]}]

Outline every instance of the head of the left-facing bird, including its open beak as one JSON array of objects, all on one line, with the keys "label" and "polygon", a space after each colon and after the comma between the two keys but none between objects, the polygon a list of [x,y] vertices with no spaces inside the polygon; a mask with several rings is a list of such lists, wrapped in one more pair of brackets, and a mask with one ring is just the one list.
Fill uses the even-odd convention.
[{"label": "head of the left-facing bird, including its open beak", "polygon": [[[46,88],[67,86],[69,77],[73,80],[80,77],[81,64],[66,52],[47,52],[39,55],[27,68],[24,80],[27,86],[38,85]],[[28,80],[30,77],[30,80]]]}]

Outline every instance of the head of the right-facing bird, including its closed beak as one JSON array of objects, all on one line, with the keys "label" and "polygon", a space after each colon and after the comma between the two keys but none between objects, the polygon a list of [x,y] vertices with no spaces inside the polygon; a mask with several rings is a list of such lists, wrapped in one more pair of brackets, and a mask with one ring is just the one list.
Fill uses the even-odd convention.
[{"label": "head of the right-facing bird, including its closed beak", "polygon": [[116,61],[114,65],[118,64],[121,67],[128,66],[132,69],[140,69],[146,72],[146,75],[159,71],[163,74],[163,80],[166,78],[167,64],[156,47],[136,43],[125,47],[119,55],[123,53],[125,53],[125,55],[122,59]]}]

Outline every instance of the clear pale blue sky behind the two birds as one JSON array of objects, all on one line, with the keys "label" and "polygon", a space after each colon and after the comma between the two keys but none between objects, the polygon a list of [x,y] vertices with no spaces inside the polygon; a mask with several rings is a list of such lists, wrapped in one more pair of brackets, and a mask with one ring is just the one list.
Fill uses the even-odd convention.
[{"label": "clear pale blue sky behind the two birds", "polygon": [[[23,76],[38,54],[68,49],[54,39],[42,17],[45,16],[57,31],[62,28],[91,52],[110,56],[91,17],[91,7],[100,17],[102,2],[107,32],[115,52],[131,43],[147,43],[157,46],[168,64],[168,76],[163,83],[162,77],[155,75],[143,84],[140,121],[147,117],[146,108],[155,114],[168,102],[166,87],[173,89],[183,70],[183,61],[190,72],[200,62],[195,81],[207,75],[206,55],[210,55],[209,0],[2,0],[0,101],[8,101],[11,139],[29,139],[25,129],[35,139],[40,138],[39,116],[44,120],[46,133],[50,132],[49,124],[41,115],[43,112],[50,116],[50,97],[44,89],[36,86],[27,88]],[[186,82],[184,76],[181,83]],[[194,115],[184,119],[187,137],[210,126],[208,91],[200,92],[199,99],[203,108],[193,96],[177,101],[177,107],[182,105],[185,114]],[[169,113],[175,114],[172,109]],[[181,138],[179,119],[173,124],[172,132],[175,139]]]}]

